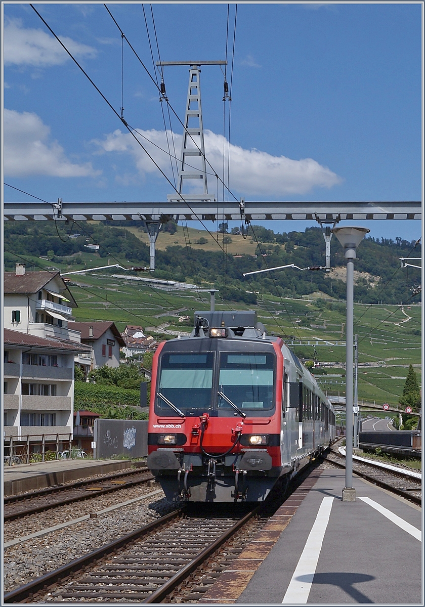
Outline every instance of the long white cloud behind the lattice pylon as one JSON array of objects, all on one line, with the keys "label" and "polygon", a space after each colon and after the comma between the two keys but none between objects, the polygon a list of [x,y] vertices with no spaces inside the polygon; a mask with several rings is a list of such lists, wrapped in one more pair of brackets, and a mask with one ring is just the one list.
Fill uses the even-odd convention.
[{"label": "long white cloud behind the lattice pylon", "polygon": [[[138,129],[140,141],[144,148],[157,162],[158,166],[170,174],[170,161],[163,150],[168,149],[165,131],[142,131]],[[143,136],[143,137],[141,137]],[[171,132],[168,132],[171,144]],[[173,134],[174,146],[177,156],[180,155],[182,135]],[[146,138],[149,141],[146,141]],[[141,149],[131,134],[123,133],[119,129],[106,135],[102,141],[94,141],[100,152],[115,152],[130,154],[134,158],[135,166],[141,175],[157,174],[159,172],[148,155]],[[228,143],[224,140],[225,149]],[[226,152],[227,153],[227,152]],[[211,165],[222,177],[223,166],[223,136],[211,131],[205,131],[205,154]],[[189,157],[189,164],[197,166],[196,157]],[[227,166],[227,161],[226,161]],[[207,171],[211,169],[207,166]],[[214,187],[213,181],[214,180]],[[216,180],[208,177],[211,191],[216,187]],[[230,189],[242,192],[244,195],[258,195],[260,197],[284,197],[285,195],[306,194],[316,187],[331,188],[341,183],[341,178],[326,166],[322,166],[312,158],[291,160],[285,156],[272,156],[257,149],[243,149],[240,146],[230,145]]]}]

